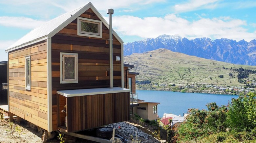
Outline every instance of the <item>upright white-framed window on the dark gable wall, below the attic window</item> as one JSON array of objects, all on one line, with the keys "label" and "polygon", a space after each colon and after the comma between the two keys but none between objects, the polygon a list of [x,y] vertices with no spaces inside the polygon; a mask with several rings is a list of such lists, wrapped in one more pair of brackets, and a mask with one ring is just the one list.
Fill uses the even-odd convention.
[{"label": "upright white-framed window on the dark gable wall, below the attic window", "polygon": [[60,53],[60,83],[78,83],[77,53]]}]

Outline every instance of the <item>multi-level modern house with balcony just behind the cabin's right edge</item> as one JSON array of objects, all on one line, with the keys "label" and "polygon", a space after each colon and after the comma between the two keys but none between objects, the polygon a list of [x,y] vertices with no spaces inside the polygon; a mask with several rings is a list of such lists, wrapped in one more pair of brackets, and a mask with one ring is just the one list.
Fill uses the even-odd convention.
[{"label": "multi-level modern house with balcony just behind the cabin's right edge", "polygon": [[160,103],[145,102],[144,100],[138,99],[138,94],[136,93],[136,75],[137,72],[131,72],[129,70],[133,69],[134,65],[124,64],[124,87],[131,90],[131,111],[132,114],[135,113],[139,115],[142,119],[156,120],[157,115],[157,105]]}]

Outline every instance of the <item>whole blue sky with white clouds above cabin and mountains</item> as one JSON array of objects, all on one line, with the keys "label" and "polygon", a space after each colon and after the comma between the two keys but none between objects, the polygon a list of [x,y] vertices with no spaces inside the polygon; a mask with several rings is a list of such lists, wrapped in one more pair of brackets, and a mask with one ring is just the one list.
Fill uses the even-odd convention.
[{"label": "whole blue sky with white clouds above cabin and mountains", "polygon": [[[0,61],[13,42],[45,22],[87,4],[87,0],[0,0]],[[127,42],[162,34],[187,39],[208,37],[250,41],[256,38],[255,0],[91,0]]]}]

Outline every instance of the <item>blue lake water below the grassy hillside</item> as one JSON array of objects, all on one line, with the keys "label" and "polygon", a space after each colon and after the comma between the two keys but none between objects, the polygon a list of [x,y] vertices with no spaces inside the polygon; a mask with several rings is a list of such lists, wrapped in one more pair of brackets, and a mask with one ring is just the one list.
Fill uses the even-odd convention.
[{"label": "blue lake water below the grassy hillside", "polygon": [[[238,95],[205,94],[205,93],[182,93],[172,91],[136,90],[138,99],[145,102],[157,102],[158,115],[163,117],[164,113],[183,116],[189,108],[207,109],[207,103],[216,102],[217,105],[226,105],[231,98]],[[152,109],[153,110],[153,109]]]}]

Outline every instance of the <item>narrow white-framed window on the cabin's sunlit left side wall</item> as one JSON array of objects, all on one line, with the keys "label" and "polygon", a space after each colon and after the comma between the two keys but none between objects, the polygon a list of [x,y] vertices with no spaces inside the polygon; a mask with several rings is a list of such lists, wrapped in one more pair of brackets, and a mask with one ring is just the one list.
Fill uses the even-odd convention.
[{"label": "narrow white-framed window on the cabin's sunlit left side wall", "polygon": [[30,56],[26,57],[26,59],[25,59],[25,82],[26,82],[25,89],[31,90],[31,62],[30,62]]}]

